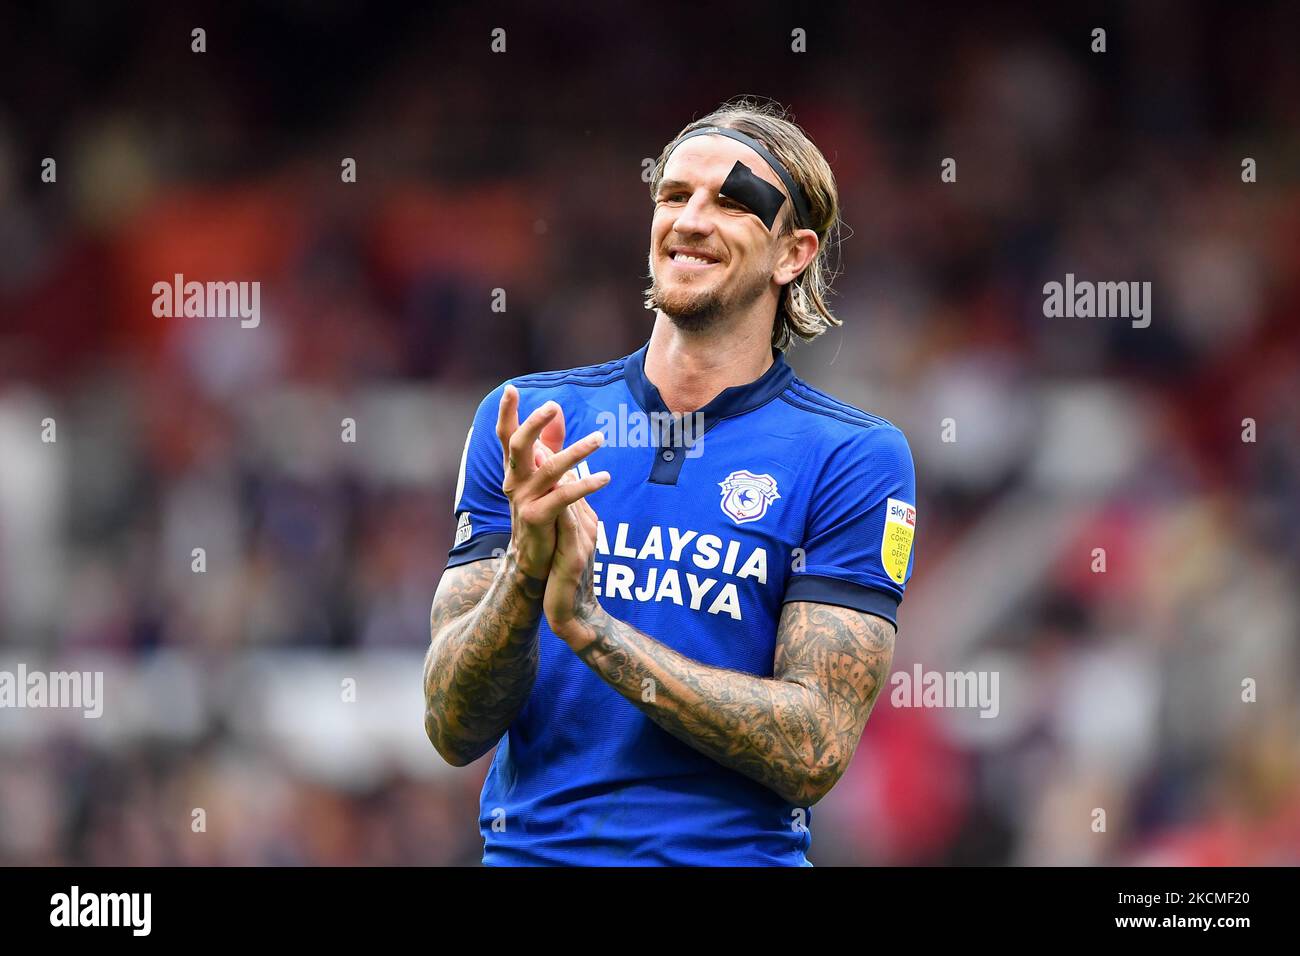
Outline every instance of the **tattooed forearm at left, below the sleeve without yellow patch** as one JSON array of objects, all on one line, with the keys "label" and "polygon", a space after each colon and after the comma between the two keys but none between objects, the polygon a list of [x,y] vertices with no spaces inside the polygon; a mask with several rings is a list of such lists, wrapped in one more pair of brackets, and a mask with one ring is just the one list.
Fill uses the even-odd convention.
[{"label": "tattooed forearm at left, below the sleeve without yellow patch", "polygon": [[533,689],[545,589],[511,554],[443,575],[424,661],[424,728],[447,762],[464,766],[491,749]]}]

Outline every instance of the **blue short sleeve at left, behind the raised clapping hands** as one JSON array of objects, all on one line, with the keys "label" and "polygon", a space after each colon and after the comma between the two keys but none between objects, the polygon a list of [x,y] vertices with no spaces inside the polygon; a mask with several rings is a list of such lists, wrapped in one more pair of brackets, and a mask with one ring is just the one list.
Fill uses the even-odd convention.
[{"label": "blue short sleeve at left, behind the raised clapping hands", "polygon": [[510,501],[500,490],[504,480],[497,412],[506,389],[502,382],[478,405],[460,453],[456,476],[456,538],[447,554],[447,567],[490,558],[510,544]]}]

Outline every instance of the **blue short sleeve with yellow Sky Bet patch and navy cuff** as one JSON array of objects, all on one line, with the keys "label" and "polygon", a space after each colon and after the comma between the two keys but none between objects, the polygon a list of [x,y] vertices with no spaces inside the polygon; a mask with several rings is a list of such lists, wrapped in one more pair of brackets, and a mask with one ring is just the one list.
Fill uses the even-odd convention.
[{"label": "blue short sleeve with yellow Sky Bet patch and navy cuff", "polygon": [[802,567],[785,601],[878,614],[897,626],[911,578],[916,475],[893,425],[863,428],[836,447],[812,496]]}]

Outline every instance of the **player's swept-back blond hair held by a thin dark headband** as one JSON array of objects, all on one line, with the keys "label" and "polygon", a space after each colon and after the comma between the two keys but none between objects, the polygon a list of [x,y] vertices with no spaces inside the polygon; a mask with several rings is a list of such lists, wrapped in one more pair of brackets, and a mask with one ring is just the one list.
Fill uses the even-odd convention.
[{"label": "player's swept-back blond hair held by a thin dark headband", "polygon": [[[818,251],[807,268],[781,287],[776,320],[772,323],[772,345],[788,349],[796,339],[811,342],[828,328],[842,325],[827,304],[831,281],[837,274],[829,258],[832,250],[838,251],[840,232],[840,193],[835,185],[835,173],[831,172],[831,165],[822,151],[793,122],[781,104],[775,100],[741,96],[728,100],[708,116],[688,124],[659,153],[654,176],[650,178],[651,202],[659,194],[663,169],[673,147],[684,135],[703,126],[727,126],[760,142],[789,170],[807,198],[811,221],[805,224],[805,228],[816,233]],[[786,202],[781,208],[779,235],[792,235],[794,228],[794,204]],[[645,306],[654,308],[649,294]]]}]

